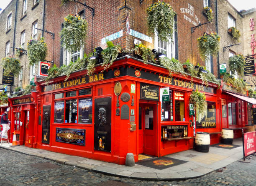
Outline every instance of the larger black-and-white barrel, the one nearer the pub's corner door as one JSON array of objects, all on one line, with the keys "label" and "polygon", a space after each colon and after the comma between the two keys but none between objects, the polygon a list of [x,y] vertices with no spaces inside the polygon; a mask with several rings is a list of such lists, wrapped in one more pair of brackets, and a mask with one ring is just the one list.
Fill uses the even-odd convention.
[{"label": "larger black-and-white barrel, the one nearer the pub's corner door", "polygon": [[209,152],[210,135],[208,132],[197,132],[195,136],[195,150],[199,152]]}]

